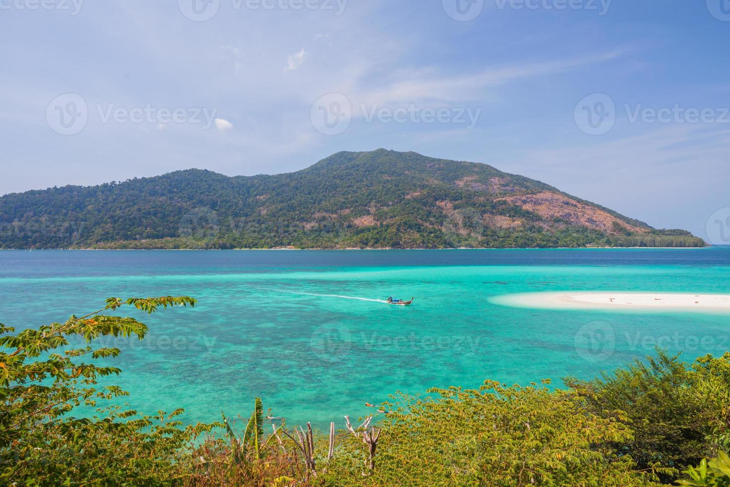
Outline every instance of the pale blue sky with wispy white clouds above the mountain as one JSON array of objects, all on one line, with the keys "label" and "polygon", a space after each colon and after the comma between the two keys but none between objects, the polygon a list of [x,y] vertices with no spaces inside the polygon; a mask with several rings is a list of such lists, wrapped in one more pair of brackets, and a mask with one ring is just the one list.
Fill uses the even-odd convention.
[{"label": "pale blue sky with wispy white clouds above the mountain", "polygon": [[384,147],[730,243],[729,45],[730,0],[0,0],[0,194]]}]

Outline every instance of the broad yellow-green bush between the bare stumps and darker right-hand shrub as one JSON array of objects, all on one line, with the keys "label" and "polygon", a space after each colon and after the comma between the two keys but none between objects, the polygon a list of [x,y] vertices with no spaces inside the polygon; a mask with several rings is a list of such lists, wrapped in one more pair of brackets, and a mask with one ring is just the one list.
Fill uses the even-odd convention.
[{"label": "broad yellow-green bush between the bare stumps and darker right-hand shrub", "polygon": [[[602,446],[629,440],[629,428],[586,413],[572,391],[487,381],[479,390],[429,392],[437,397],[401,396],[401,406],[387,415],[372,485],[626,486],[656,480],[654,472],[637,472],[628,456]],[[328,480],[360,485],[357,456],[345,458]]]}]

